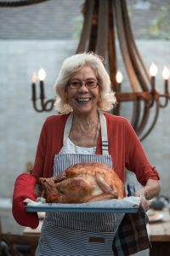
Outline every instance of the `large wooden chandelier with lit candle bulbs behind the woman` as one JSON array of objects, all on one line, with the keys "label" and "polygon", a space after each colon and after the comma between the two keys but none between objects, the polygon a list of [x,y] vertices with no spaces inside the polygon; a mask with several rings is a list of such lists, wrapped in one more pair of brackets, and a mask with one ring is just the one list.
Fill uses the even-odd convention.
[{"label": "large wooden chandelier with lit candle bulbs behind the woman", "polygon": [[[32,4],[43,1],[48,0],[14,1],[13,3]],[[159,92],[156,90],[157,67],[152,63],[149,72],[144,66],[133,38],[126,0],[85,0],[82,14],[84,16],[82,35],[76,53],[93,51],[105,58],[105,66],[110,73],[112,89],[116,92],[118,102],[114,114],[120,115],[123,102],[131,102],[130,122],[139,139],[143,140],[155,127],[160,109],[166,108],[169,102],[169,70],[167,67],[163,69],[164,91]],[[116,41],[127,73],[128,91],[123,88],[122,73],[117,64]],[[41,69],[38,73],[40,95],[37,98],[37,75],[32,75],[32,104],[33,108],[40,113],[54,108],[54,99],[47,101],[45,99],[45,76],[45,71]],[[37,99],[40,101],[37,102]]]}]

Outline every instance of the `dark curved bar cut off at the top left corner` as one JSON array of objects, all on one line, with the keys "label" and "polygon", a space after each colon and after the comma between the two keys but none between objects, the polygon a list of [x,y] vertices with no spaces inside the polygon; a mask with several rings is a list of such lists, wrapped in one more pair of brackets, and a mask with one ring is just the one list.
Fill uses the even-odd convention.
[{"label": "dark curved bar cut off at the top left corner", "polygon": [[13,1],[13,2],[0,2],[0,7],[21,7],[26,5],[31,5],[35,3],[47,2],[50,0],[21,0],[21,1]]}]

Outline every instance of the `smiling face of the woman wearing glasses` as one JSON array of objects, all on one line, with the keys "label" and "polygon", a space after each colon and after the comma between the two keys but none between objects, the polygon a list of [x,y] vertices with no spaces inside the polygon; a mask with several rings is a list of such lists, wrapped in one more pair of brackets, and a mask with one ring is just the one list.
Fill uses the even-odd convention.
[{"label": "smiling face of the woman wearing glasses", "polygon": [[[85,85],[87,82],[88,84],[94,84],[94,86],[98,83],[94,69],[88,66],[82,67],[69,80],[71,85],[68,85],[67,88],[67,98],[75,113],[87,114],[97,110],[99,85],[96,84],[94,88],[89,88],[90,85]],[[77,87],[75,84],[79,84],[79,88],[74,88]]]}]

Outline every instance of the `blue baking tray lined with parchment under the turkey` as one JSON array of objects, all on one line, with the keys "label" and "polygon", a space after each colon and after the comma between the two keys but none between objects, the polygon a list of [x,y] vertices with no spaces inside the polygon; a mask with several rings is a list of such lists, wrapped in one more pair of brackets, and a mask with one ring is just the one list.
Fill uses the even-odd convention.
[{"label": "blue baking tray lined with parchment under the turkey", "polygon": [[77,204],[42,203],[29,204],[26,212],[129,212],[135,213],[139,210],[139,201],[108,200],[94,201]]}]

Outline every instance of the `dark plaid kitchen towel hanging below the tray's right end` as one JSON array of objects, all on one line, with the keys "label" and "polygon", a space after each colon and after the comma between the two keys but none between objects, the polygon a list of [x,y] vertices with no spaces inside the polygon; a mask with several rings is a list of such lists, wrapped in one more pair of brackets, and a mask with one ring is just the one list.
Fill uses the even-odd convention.
[{"label": "dark plaid kitchen towel hanging below the tray's right end", "polygon": [[125,214],[113,241],[115,256],[131,255],[151,247],[146,230],[147,221],[147,215],[142,207],[137,213]]}]

